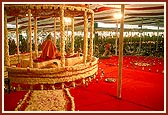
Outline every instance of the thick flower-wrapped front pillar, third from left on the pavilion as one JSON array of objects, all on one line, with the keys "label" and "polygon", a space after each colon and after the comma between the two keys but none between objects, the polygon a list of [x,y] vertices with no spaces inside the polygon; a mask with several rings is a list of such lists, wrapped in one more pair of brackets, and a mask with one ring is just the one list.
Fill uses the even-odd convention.
[{"label": "thick flower-wrapped front pillar, third from left on the pavilion", "polygon": [[32,34],[32,28],[31,28],[31,10],[28,9],[28,38],[30,41],[30,63],[29,63],[29,67],[32,68],[33,67],[33,59],[32,59],[32,40],[31,40],[31,34]]}]

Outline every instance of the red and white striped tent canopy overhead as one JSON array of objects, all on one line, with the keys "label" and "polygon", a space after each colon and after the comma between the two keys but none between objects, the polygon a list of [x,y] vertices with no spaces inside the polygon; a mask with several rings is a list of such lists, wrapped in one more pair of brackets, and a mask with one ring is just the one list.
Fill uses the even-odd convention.
[{"label": "red and white striped tent canopy overhead", "polygon": [[[18,17],[18,25],[20,30],[26,30],[28,27],[28,17],[26,16],[27,11],[19,9],[15,6],[24,6],[24,4],[4,4],[5,9],[8,9],[7,22],[8,25],[16,25],[16,18]],[[25,4],[27,5],[27,4]],[[37,10],[35,6],[38,4],[31,4],[34,6],[32,11],[32,27],[34,25],[34,16],[37,17],[38,30],[53,31],[54,30],[54,16],[58,17],[59,13],[55,8],[55,5],[59,4],[48,4],[48,10],[41,8]],[[46,4],[45,4],[46,5]],[[68,4],[66,4],[68,5]],[[94,11],[94,21],[96,23],[104,24],[116,24],[117,19],[114,16],[116,13],[120,13],[120,4],[70,4],[74,6],[82,6],[90,8]],[[164,3],[128,3],[125,4],[125,20],[126,25],[138,25],[138,26],[156,26],[164,27]],[[82,12],[74,13],[75,16],[75,29],[83,28],[84,21]],[[71,17],[65,12],[65,17]],[[89,19],[90,21],[90,19]],[[120,21],[120,20],[118,20]],[[59,19],[57,19],[57,30],[59,29]],[[11,30],[15,30],[11,27]]]}]

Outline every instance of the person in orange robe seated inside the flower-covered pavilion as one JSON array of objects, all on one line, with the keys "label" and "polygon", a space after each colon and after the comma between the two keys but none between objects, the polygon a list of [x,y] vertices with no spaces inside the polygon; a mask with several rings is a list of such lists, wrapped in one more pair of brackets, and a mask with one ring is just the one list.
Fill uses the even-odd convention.
[{"label": "person in orange robe seated inside the flower-covered pavilion", "polygon": [[52,43],[52,35],[49,34],[46,40],[41,45],[42,54],[40,56],[43,60],[50,60],[56,58],[58,55],[56,46]]}]

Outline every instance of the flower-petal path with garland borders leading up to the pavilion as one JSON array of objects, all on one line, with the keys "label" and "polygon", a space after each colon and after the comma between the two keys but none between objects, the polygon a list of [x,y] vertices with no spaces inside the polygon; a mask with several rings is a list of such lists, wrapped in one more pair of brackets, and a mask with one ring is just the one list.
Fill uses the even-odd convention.
[{"label": "flower-petal path with garland borders leading up to the pavilion", "polygon": [[75,104],[68,89],[34,90],[29,91],[24,96],[24,99],[20,101],[15,111],[22,110],[21,107],[25,103],[26,107],[24,111],[68,111],[67,106],[69,102],[73,111]]}]

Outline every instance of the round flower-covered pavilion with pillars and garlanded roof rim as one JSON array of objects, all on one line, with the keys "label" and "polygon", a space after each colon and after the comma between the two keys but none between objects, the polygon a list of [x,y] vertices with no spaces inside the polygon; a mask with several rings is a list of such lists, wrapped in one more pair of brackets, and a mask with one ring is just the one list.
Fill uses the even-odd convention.
[{"label": "round flower-covered pavilion with pillars and garlanded roof rim", "polygon": [[[13,13],[13,12],[16,13]],[[28,14],[28,16],[27,16]],[[7,16],[16,17],[16,43],[17,57],[20,67],[11,66],[8,46]],[[28,18],[28,39],[30,41],[30,51],[27,57],[21,57],[18,46],[18,18]],[[56,44],[56,19],[59,20],[60,33],[60,59],[38,61],[39,52],[37,45],[37,19],[54,18],[54,44]],[[67,56],[65,52],[65,22],[64,17],[70,17],[71,24],[71,52]],[[74,52],[74,18],[83,17],[84,19],[84,48],[80,55]],[[90,39],[88,47],[88,18],[90,18]],[[34,23],[32,23],[32,21]],[[32,26],[34,24],[34,26]],[[32,28],[34,29],[35,52],[32,51]],[[82,80],[85,84],[86,79],[92,79],[98,71],[98,58],[93,56],[93,29],[94,12],[84,5],[10,5],[6,4],[4,9],[4,65],[8,72],[11,84],[17,84],[21,89],[22,85],[28,85],[28,89],[33,89],[34,85],[40,85],[43,89],[45,84],[57,84]],[[23,54],[22,54],[23,55]],[[34,58],[33,58],[34,57]],[[54,65],[54,66],[53,66]]]}]

